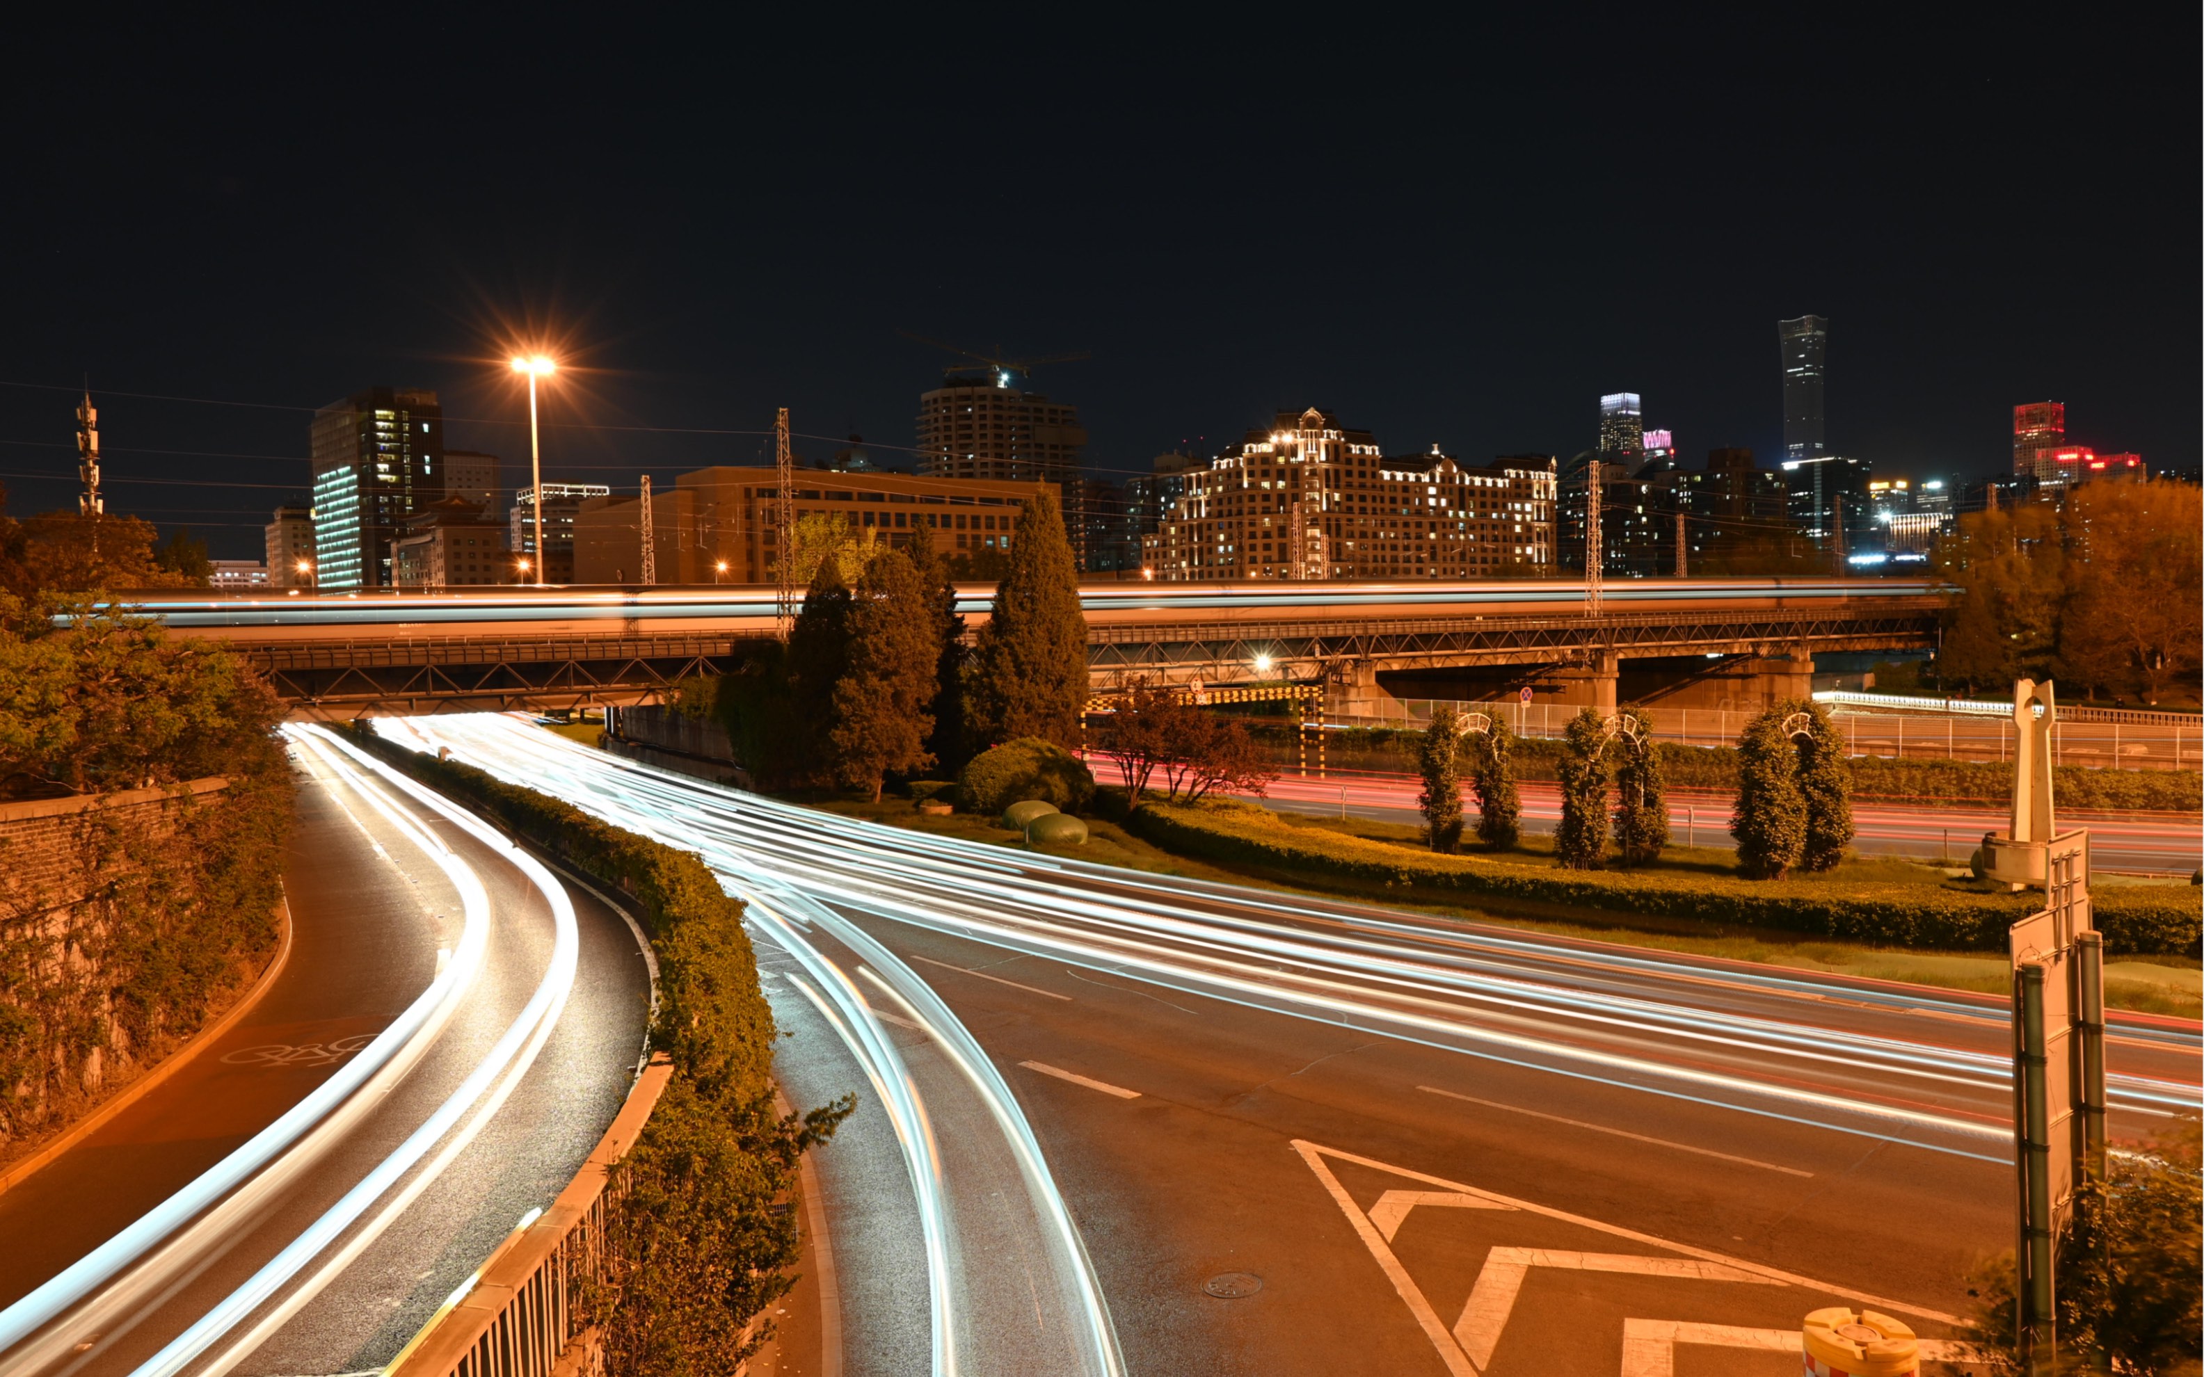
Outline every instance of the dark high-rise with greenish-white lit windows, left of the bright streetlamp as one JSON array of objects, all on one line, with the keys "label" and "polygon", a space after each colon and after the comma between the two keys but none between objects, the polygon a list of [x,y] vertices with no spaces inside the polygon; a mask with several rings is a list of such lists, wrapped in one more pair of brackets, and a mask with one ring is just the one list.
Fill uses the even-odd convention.
[{"label": "dark high-rise with greenish-white lit windows, left of the bright streetlamp", "polygon": [[443,408],[423,388],[368,388],[313,414],[315,586],[388,588],[408,516],[443,500]]}]

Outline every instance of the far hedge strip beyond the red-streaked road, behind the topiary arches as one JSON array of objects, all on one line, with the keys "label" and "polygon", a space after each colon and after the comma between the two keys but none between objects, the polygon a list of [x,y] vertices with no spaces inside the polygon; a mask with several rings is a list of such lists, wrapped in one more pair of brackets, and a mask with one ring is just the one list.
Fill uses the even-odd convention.
[{"label": "far hedge strip beyond the red-streaked road, behind the topiary arches", "polygon": [[[1292,747],[1292,727],[1250,723],[1256,736],[1274,747]],[[1397,727],[1347,727],[1327,736],[1336,767],[1415,769],[1415,742],[1422,731]],[[1516,778],[1558,780],[1560,740],[1516,738],[1512,753]],[[1686,747],[1660,742],[1662,769],[1673,789],[1737,789],[1737,751],[1732,747]],[[2012,765],[1979,760],[1887,760],[1856,756],[1849,760],[1851,791],[1858,798],[1889,800],[1977,800],[2003,804],[2012,798]],[[2204,773],[2193,769],[2092,769],[2061,765],[2052,791],[2067,809],[2116,809],[2138,813],[2204,811]]]}]

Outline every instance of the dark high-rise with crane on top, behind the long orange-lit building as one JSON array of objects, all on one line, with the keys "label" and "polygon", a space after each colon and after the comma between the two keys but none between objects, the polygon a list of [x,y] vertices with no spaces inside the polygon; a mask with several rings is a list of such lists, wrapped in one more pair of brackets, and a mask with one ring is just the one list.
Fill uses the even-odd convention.
[{"label": "dark high-rise with crane on top, behind the long orange-lit building", "polygon": [[1065,533],[1084,568],[1087,487],[1080,410],[1040,392],[1014,388],[1009,368],[950,368],[941,386],[919,397],[919,474],[1054,483],[1062,494]]}]

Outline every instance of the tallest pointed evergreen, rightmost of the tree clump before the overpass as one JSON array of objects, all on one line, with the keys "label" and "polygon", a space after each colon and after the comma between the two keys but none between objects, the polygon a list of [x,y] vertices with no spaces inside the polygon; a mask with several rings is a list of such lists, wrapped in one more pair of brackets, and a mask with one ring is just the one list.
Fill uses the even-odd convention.
[{"label": "tallest pointed evergreen, rightmost of the tree clump before the overpass", "polygon": [[1018,736],[1080,745],[1087,707],[1087,617],[1080,573],[1065,538],[1056,489],[1042,487],[1018,516],[1009,571],[972,650],[965,681],[968,747]]}]

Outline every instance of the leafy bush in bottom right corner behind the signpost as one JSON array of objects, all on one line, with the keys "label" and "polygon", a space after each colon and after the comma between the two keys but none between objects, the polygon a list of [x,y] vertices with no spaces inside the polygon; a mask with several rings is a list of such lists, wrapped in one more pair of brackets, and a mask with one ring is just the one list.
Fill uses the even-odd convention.
[{"label": "leafy bush in bottom right corner behind the signpost", "polygon": [[[2122,1152],[2074,1192],[2074,1223],[2056,1258],[2056,1373],[2195,1373],[2197,1254],[2204,1236],[2197,1119],[2186,1115],[2144,1152]],[[1997,1373],[2025,1373],[2012,1254],[1968,1278],[1968,1340]]]}]

